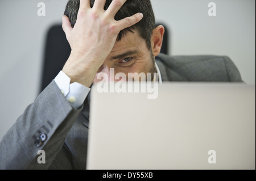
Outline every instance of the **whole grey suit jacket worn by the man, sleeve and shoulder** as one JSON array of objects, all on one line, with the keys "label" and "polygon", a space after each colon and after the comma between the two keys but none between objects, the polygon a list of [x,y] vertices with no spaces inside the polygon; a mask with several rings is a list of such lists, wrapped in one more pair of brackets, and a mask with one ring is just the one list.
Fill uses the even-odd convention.
[{"label": "whole grey suit jacket worn by the man, sleeve and shoulder", "polygon": [[[228,57],[160,54],[156,64],[163,81],[242,82]],[[89,102],[90,95],[73,109],[52,81],[2,138],[0,169],[86,169]],[[39,150],[46,163],[38,163]]]}]

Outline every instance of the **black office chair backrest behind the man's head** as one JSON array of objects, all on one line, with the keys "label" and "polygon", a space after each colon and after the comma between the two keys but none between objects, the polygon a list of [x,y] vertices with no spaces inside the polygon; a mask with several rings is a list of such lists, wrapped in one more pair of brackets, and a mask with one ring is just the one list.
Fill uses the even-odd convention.
[{"label": "black office chair backrest behind the man's head", "polygon": [[[156,24],[158,26],[159,24]],[[165,27],[165,26],[164,26]],[[168,30],[163,37],[161,53],[168,54]],[[68,60],[71,48],[66,39],[61,24],[49,28],[46,37],[46,44],[43,57],[43,73],[40,92],[43,91],[49,83],[56,77],[60,70],[63,69],[65,62]]]}]

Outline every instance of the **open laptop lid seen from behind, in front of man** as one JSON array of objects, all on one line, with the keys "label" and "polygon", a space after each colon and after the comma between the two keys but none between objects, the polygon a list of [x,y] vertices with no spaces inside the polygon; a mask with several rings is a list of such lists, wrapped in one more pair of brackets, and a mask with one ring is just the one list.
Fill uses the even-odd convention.
[{"label": "open laptop lid seen from behind, in front of man", "polygon": [[255,169],[255,85],[168,82],[148,94],[92,87],[86,169]]}]

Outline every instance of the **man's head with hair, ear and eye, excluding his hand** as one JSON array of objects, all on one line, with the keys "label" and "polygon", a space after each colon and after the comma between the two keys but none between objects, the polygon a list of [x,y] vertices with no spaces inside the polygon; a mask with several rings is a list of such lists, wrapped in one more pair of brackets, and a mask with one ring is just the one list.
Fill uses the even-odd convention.
[{"label": "man's head with hair, ear and eye, excluding his hand", "polygon": [[[91,7],[94,1],[91,0]],[[106,0],[104,10],[108,9],[110,3],[112,0]],[[79,0],[69,0],[64,12],[72,27],[76,23],[79,4]],[[156,72],[154,56],[160,52],[164,28],[155,28],[155,16],[150,0],[127,0],[115,15],[115,20],[124,19],[137,12],[142,12],[143,19],[119,32],[112,52],[98,72],[108,71],[109,68],[115,68],[115,73],[125,74]]]}]

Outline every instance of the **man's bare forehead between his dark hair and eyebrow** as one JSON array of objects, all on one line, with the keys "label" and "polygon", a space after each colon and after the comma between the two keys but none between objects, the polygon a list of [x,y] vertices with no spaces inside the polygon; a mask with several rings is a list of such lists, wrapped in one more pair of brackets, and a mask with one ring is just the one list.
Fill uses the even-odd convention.
[{"label": "man's bare forehead between his dark hair and eyebrow", "polygon": [[146,48],[146,41],[139,36],[138,31],[127,32],[121,40],[116,41],[110,55],[119,54],[127,50],[141,50]]}]

